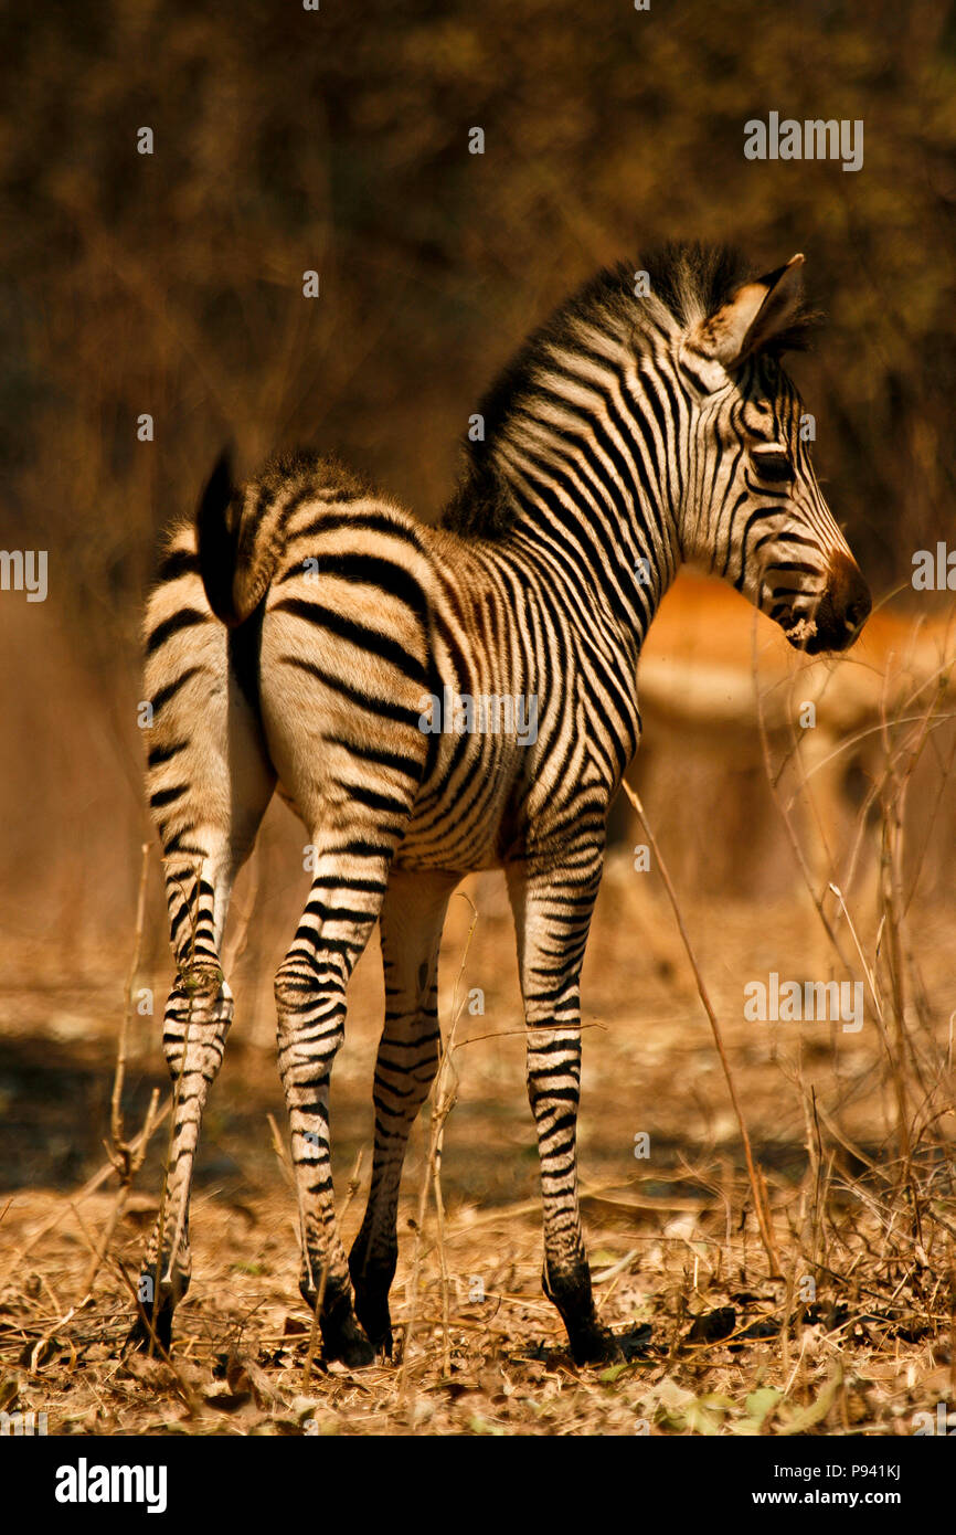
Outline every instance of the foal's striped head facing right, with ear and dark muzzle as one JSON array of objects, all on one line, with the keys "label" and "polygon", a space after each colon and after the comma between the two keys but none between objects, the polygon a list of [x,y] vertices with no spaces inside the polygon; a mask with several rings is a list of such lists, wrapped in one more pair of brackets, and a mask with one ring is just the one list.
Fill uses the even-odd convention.
[{"label": "foal's striped head facing right, with ear and dark muzzle", "polygon": [[703,560],[803,651],[842,651],[870,593],[822,499],[810,418],[781,365],[807,327],[803,256],[692,321],[678,365],[694,405],[681,508],[684,556]]}]

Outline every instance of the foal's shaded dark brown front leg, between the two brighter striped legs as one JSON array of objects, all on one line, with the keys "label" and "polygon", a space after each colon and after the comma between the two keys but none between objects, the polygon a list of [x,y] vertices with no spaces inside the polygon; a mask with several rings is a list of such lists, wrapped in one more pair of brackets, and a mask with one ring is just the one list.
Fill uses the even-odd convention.
[{"label": "foal's shaded dark brown front leg, between the two brighter striped legs", "polygon": [[362,1228],[348,1256],[354,1308],[373,1346],[391,1355],[388,1291],[397,1262],[397,1203],[408,1136],[439,1067],[437,961],[459,875],[394,869],[382,904],[385,1028],[374,1068],[374,1157]]}]

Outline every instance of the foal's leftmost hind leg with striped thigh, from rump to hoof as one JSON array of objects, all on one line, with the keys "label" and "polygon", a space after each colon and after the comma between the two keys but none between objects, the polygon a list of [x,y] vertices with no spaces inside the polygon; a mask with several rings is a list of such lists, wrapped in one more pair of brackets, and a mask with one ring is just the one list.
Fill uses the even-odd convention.
[{"label": "foal's leftmost hind leg with striped thigh, from rump to hoof", "polygon": [[255,694],[256,631],[212,614],[195,525],[170,537],[146,617],[147,792],[163,846],[176,979],[163,1051],[175,1114],[160,1217],[138,1286],[134,1342],[169,1348],[189,1285],[189,1190],[203,1107],[223,1061],[232,995],[219,946],[233,880],[275,787]]}]

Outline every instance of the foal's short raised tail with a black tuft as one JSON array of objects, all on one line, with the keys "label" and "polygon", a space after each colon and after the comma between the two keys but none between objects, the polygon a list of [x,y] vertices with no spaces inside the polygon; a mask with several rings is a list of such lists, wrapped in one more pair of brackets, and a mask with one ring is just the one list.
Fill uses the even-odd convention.
[{"label": "foal's short raised tail with a black tuft", "polygon": [[196,507],[199,573],[209,606],[236,629],[259,606],[285,543],[282,508],[264,497],[244,496],[226,448]]}]

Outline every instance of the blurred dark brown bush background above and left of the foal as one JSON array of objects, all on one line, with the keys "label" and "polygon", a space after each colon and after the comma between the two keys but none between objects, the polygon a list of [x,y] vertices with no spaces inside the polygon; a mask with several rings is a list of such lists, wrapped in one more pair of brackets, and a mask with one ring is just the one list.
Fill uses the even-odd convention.
[{"label": "blurred dark brown bush background above and left of the foal", "polygon": [[[48,0],[3,11],[0,57],[0,542],[49,551],[46,603],[0,594],[0,918],[31,966],[126,955],[141,599],[229,437],[246,467],[335,448],[433,519],[569,289],[730,239],[807,256],[829,325],[793,371],[875,589],[951,534],[951,5]],[[862,169],[744,160],[770,111],[862,120]]]}]

